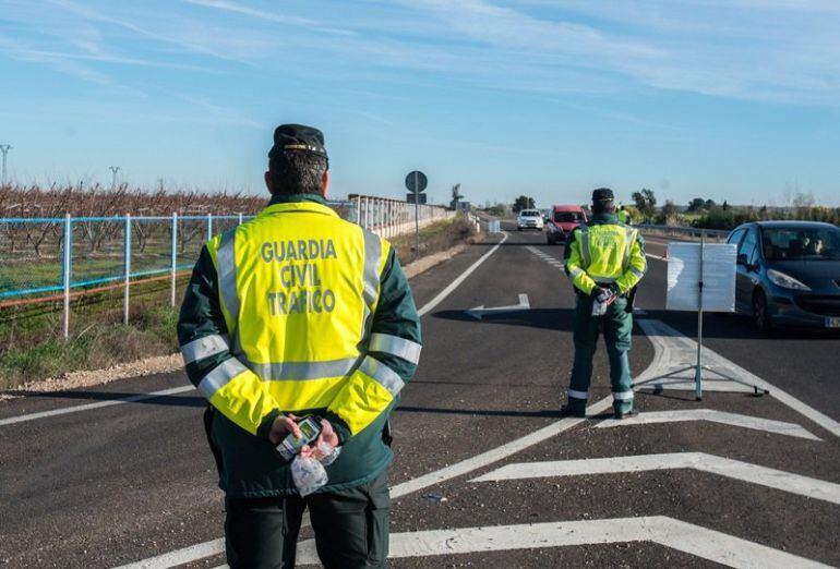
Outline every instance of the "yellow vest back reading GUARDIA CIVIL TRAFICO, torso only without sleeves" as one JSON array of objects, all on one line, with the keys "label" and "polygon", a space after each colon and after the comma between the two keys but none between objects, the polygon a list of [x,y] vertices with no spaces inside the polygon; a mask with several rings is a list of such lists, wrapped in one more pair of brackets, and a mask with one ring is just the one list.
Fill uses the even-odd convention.
[{"label": "yellow vest back reading GUARDIA CIVIL TRAFICO, torso only without sleeves", "polygon": [[389,247],[311,202],[271,205],[207,243],[231,352],[281,410],[326,408],[361,363]]}]

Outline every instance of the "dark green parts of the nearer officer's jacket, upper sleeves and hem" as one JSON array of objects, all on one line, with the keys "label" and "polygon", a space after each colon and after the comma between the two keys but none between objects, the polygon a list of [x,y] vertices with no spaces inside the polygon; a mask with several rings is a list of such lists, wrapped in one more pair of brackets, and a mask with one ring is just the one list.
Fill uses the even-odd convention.
[{"label": "dark green parts of the nearer officer's jacket, upper sleeves and hem", "polygon": [[[326,204],[321,196],[312,194],[274,196],[271,204],[303,201]],[[360,267],[359,270],[361,269]],[[393,247],[382,273],[380,287],[371,334],[398,336],[420,343],[420,318],[408,280]],[[204,247],[181,305],[178,339],[181,346],[185,346],[204,336],[226,335],[227,331],[219,304],[218,275],[207,249]],[[368,353],[394,370],[405,383],[410,380],[417,367],[413,363],[388,353]],[[197,360],[187,365],[187,375],[197,387],[202,378],[230,358],[231,353],[225,351]],[[320,492],[365,484],[387,468],[393,459],[387,428],[388,415],[398,402],[397,397],[388,409],[356,436],[350,436],[347,425],[326,409],[296,412],[299,416],[312,414],[329,420],[343,441],[341,455],[326,469],[329,482]],[[254,436],[221,413],[213,412],[212,408],[209,413],[207,427],[211,446],[219,467],[219,486],[228,496],[267,497],[297,494],[291,480],[290,463],[285,462],[268,441],[269,420],[265,421]]]}]

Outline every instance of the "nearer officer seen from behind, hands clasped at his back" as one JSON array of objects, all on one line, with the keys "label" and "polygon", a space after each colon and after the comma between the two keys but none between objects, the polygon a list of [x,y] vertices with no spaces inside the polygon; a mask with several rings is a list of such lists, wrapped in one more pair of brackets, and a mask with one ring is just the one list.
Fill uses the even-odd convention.
[{"label": "nearer officer seen from behind, hands clasped at his back", "polygon": [[[178,323],[209,401],[228,564],[293,567],[309,508],[325,567],[384,567],[387,421],[417,367],[419,317],[391,244],[327,206],[322,133],[280,125],[268,158],[271,202],[202,250]],[[301,498],[275,445],[307,416],[341,453]]]}]

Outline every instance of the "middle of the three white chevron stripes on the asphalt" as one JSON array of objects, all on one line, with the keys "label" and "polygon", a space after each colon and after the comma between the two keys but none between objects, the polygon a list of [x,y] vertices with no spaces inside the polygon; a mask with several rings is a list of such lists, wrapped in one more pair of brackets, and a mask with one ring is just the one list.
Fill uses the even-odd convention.
[{"label": "middle of the three white chevron stripes on the asphalt", "polygon": [[672,452],[602,459],[520,462],[507,464],[483,476],[472,479],[470,482],[615,474],[672,469],[692,469],[708,472],[813,499],[840,504],[840,484],[802,476],[782,470],[759,467],[758,464],[740,460],[707,455],[706,452]]}]

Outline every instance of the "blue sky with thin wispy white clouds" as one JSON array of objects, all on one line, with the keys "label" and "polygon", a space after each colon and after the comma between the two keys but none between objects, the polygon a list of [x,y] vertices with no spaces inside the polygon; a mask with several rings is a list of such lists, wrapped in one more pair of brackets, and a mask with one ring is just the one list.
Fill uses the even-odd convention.
[{"label": "blue sky with thin wispy white clouds", "polygon": [[249,193],[275,125],[332,193],[840,205],[837,0],[4,0],[19,182]]}]

